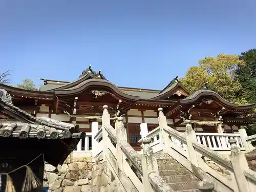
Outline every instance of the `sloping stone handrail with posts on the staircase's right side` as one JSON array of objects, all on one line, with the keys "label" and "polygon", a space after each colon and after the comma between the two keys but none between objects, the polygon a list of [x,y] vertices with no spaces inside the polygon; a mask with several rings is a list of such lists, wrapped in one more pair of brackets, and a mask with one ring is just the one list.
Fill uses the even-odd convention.
[{"label": "sloping stone handrail with posts on the staircase's right side", "polygon": [[[196,133],[190,124],[190,120],[185,120],[186,131],[184,135],[181,135],[167,125],[166,117],[161,108],[159,109],[158,120],[160,126],[159,144],[162,149],[200,179],[205,180],[210,178],[215,184],[216,191],[252,192],[256,190],[256,172],[249,169],[245,155],[240,151],[240,146],[237,145],[237,139],[228,140],[230,145],[230,156],[228,159],[197,142]],[[241,136],[242,142],[245,138],[244,136],[245,134]],[[175,145],[169,137],[174,137],[186,144],[186,151],[182,147]],[[244,143],[243,145],[245,148],[248,148]],[[217,170],[211,169],[203,160],[203,157],[207,157],[216,164],[226,168],[229,171],[229,177],[224,177]]]}]

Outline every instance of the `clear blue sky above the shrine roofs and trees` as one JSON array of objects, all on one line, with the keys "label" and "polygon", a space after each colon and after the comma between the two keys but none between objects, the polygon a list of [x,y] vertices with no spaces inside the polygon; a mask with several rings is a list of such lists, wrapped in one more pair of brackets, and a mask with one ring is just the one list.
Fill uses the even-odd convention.
[{"label": "clear blue sky above the shrine roofs and trees", "polygon": [[255,0],[2,0],[0,70],[75,80],[90,63],[117,86],[162,89],[219,53],[256,47]]}]

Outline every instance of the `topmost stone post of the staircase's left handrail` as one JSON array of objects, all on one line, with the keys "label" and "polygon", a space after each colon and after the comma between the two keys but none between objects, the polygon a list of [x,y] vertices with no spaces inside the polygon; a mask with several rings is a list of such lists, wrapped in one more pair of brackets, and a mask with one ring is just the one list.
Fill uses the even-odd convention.
[{"label": "topmost stone post of the staircase's left handrail", "polygon": [[105,130],[105,126],[110,125],[110,114],[108,112],[108,105],[103,106],[103,114],[102,114],[102,140],[103,140],[103,157],[105,160],[105,156],[108,153],[108,145],[106,140],[108,139],[108,133]]}]

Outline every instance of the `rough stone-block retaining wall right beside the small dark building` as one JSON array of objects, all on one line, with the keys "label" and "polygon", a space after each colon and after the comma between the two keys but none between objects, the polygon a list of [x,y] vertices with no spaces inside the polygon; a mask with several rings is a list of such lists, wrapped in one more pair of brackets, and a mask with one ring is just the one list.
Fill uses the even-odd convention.
[{"label": "rough stone-block retaining wall right beside the small dark building", "polygon": [[71,153],[62,165],[45,164],[44,186],[49,192],[91,192],[92,153]]}]

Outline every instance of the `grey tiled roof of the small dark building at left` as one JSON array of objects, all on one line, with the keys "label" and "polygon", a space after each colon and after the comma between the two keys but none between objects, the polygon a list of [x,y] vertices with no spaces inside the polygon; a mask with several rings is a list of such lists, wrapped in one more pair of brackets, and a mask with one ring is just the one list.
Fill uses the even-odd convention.
[{"label": "grey tiled roof of the small dark building at left", "polygon": [[65,123],[48,117],[34,117],[12,104],[11,96],[0,89],[0,112],[14,120],[0,120],[0,136],[20,139],[67,139],[81,138],[85,133],[77,133],[79,125]]}]

